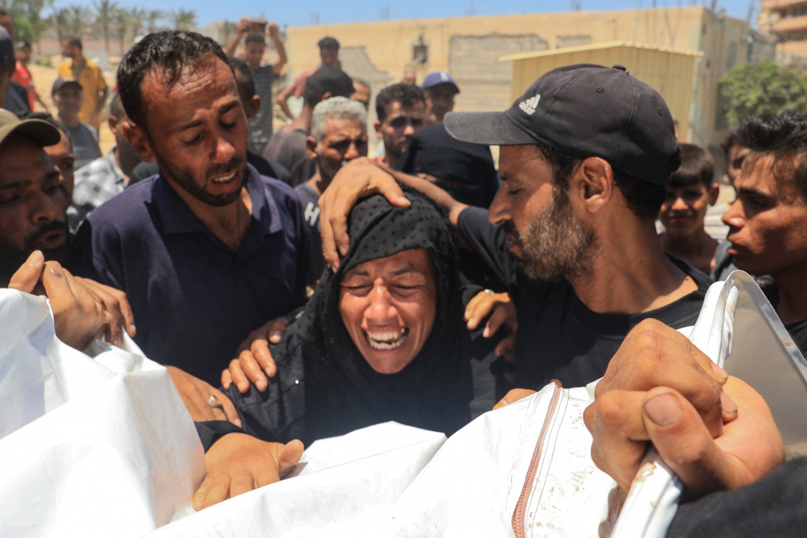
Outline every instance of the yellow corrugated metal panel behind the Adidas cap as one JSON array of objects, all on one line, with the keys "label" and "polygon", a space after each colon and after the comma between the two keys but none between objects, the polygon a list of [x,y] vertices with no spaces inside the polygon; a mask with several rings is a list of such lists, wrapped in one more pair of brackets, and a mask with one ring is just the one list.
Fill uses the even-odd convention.
[{"label": "yellow corrugated metal panel behind the Adidas cap", "polygon": [[698,56],[702,53],[671,52],[622,42],[518,55],[513,60],[511,98],[515,101],[538,77],[563,65],[624,65],[634,77],[659,91],[672,117],[678,120],[679,134],[683,137],[689,127],[692,80]]}]

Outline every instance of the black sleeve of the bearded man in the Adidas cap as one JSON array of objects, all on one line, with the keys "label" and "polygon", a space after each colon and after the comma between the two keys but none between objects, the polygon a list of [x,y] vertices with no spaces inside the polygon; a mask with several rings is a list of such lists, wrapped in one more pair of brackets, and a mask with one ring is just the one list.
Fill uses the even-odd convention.
[{"label": "black sleeve of the bearded man in the Adidas cap", "polygon": [[487,222],[487,210],[467,207],[459,214],[457,227],[471,250],[491,272],[508,288],[515,286],[516,261],[508,251],[508,236],[504,234],[504,228]]}]

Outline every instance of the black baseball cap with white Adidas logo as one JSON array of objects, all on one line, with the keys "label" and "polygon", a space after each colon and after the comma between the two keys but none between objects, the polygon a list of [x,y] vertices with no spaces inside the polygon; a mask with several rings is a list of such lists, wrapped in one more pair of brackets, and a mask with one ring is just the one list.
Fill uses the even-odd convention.
[{"label": "black baseball cap with white Adidas logo", "polygon": [[449,112],[458,140],[544,144],[573,156],[599,156],[613,169],[663,185],[681,162],[667,103],[621,65],[553,69],[504,112]]}]

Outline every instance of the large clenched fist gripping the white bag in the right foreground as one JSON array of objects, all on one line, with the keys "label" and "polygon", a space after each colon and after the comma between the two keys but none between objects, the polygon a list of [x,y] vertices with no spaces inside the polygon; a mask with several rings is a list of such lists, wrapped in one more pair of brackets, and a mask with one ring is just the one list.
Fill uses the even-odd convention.
[{"label": "large clenched fist gripping the white bag in the right foreground", "polygon": [[784,461],[763,398],[654,319],[625,338],[584,419],[594,462],[625,490],[650,443],[692,494],[745,486]]}]

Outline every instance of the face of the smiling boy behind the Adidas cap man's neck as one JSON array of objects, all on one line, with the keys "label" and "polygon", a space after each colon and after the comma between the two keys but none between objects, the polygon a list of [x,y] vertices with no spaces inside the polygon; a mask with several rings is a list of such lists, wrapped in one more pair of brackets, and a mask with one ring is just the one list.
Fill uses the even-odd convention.
[{"label": "face of the smiling boy behind the Adidas cap man's neck", "polygon": [[700,181],[688,185],[667,186],[667,196],[659,211],[659,220],[671,236],[694,236],[704,227],[709,206],[717,201],[720,186],[707,188]]}]

